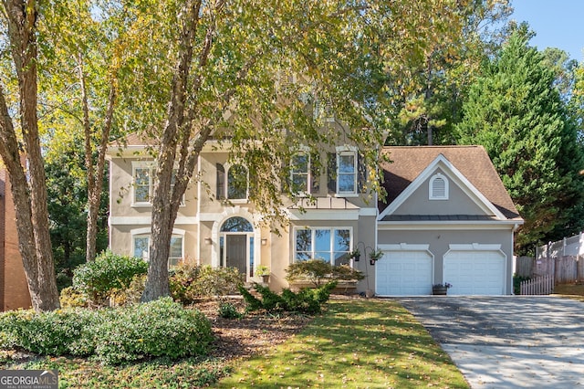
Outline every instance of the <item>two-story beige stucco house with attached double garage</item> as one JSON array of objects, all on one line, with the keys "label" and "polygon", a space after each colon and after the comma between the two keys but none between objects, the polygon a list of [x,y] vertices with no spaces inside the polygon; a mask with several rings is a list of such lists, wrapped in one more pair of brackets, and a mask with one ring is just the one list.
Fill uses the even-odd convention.
[{"label": "two-story beige stucco house with attached double garage", "polygon": [[[148,258],[153,162],[147,143],[131,135],[110,160],[110,248]],[[260,226],[247,200],[245,164],[210,142],[200,155],[197,183],[183,198],[169,266],[180,260],[235,267],[247,280],[270,268],[270,288],[288,286],[287,266],[322,258],[346,263],[367,277],[359,291],[378,295],[430,294],[449,282],[454,294],[511,294],[513,233],[522,219],[485,150],[478,146],[388,147],[382,166],[387,202],[367,201],[360,152],[338,144],[319,155],[298,152],[288,180],[310,194],[285,200],[289,225],[280,234]],[[311,160],[319,158],[319,172]],[[247,184],[241,184],[247,183]],[[349,252],[360,249],[360,261]],[[374,265],[369,253],[384,255]]]}]

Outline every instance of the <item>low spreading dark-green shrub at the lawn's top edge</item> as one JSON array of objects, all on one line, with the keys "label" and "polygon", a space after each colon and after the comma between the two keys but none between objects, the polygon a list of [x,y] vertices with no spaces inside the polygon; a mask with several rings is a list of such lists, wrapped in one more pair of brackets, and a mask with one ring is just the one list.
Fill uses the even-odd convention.
[{"label": "low spreading dark-green shrub at the lawn's top edge", "polygon": [[295,293],[290,289],[282,290],[278,295],[265,286],[255,284],[254,289],[262,299],[255,298],[247,289],[241,287],[240,293],[247,303],[247,310],[294,311],[316,314],[322,310],[321,305],[328,301],[330,291],[337,287],[337,281],[330,281],[317,289],[302,289]]}]

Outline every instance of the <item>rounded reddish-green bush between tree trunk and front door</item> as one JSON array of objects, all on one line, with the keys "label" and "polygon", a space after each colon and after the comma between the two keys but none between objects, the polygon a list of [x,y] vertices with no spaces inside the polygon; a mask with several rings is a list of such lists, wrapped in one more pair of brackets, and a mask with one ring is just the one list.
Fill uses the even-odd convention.
[{"label": "rounded reddish-green bush between tree trunk and front door", "polygon": [[237,293],[237,288],[244,283],[243,275],[236,268],[211,268],[190,263],[182,263],[173,270],[169,282],[172,297],[183,304]]}]

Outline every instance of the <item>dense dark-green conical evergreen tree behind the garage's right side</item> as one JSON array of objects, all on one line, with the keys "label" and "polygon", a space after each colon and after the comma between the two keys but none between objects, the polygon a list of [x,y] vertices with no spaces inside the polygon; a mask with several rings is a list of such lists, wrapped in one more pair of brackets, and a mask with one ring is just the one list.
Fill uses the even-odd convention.
[{"label": "dense dark-green conical evergreen tree behind the garage's right side", "polygon": [[583,204],[584,159],[555,80],[519,29],[474,82],[457,126],[460,143],[485,146],[525,219],[519,254],[552,238]]}]

